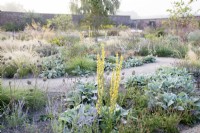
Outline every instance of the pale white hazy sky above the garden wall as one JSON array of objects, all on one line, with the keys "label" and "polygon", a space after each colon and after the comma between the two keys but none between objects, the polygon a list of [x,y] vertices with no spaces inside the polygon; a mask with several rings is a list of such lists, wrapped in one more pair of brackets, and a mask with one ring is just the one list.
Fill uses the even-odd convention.
[{"label": "pale white hazy sky above the garden wall", "polygon": [[[121,0],[119,14],[134,14],[141,18],[166,16],[167,9],[171,8],[174,0]],[[184,0],[188,1],[188,0]],[[38,13],[69,13],[70,0],[0,0],[0,5],[14,2],[23,7],[27,11]],[[200,0],[192,4],[192,8],[197,10],[200,8]],[[0,9],[1,10],[1,9]]]}]

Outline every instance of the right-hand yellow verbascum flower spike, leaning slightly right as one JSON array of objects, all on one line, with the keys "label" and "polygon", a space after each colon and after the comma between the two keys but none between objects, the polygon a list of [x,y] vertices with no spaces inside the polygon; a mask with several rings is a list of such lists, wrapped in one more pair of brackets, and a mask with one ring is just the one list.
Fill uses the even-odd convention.
[{"label": "right-hand yellow verbascum flower spike, leaning slightly right", "polygon": [[110,114],[114,113],[116,103],[117,103],[119,84],[120,84],[120,80],[121,80],[122,62],[123,62],[123,57],[121,56],[120,61],[119,61],[119,57],[117,54],[116,67],[115,67],[115,69],[112,73],[112,77],[111,77],[110,109],[109,109]]}]

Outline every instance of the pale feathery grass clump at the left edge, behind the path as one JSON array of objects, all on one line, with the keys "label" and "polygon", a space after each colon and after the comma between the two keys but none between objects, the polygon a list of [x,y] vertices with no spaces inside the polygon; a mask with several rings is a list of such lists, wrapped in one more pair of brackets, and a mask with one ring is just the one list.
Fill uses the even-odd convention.
[{"label": "pale feathery grass clump at the left edge, behind the path", "polygon": [[40,55],[34,49],[41,45],[36,40],[0,41],[0,74],[5,75],[5,77],[13,77],[18,69],[20,76],[26,76],[33,72],[34,66],[40,60]]}]

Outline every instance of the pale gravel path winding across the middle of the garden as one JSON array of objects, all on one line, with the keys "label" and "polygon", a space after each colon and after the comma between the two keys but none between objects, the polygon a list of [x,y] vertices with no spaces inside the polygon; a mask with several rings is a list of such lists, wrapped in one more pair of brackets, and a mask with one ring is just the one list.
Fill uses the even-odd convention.
[{"label": "pale gravel path winding across the middle of the garden", "polygon": [[[132,72],[135,71],[136,75],[140,74],[151,74],[154,73],[155,70],[161,66],[171,66],[177,59],[174,58],[156,58],[155,63],[145,64],[140,67],[133,67],[128,69],[123,69],[122,72],[125,73],[125,78],[132,75]],[[110,75],[108,76],[110,77]],[[56,79],[48,79],[46,82],[43,79],[3,79],[3,85],[9,86],[9,82],[11,82],[11,86],[15,87],[15,89],[19,88],[32,88],[35,84],[37,84],[38,88],[43,90],[48,90],[49,92],[66,92],[68,89],[72,88],[74,82],[81,81],[95,81],[96,76],[86,77],[73,77],[73,78],[56,78]],[[27,84],[27,81],[31,81],[31,85]]]}]

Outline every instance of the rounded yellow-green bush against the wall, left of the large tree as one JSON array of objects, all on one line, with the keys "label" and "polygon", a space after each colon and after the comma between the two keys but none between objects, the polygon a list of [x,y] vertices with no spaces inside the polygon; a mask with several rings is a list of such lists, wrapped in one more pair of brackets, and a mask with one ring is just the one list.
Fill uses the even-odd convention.
[{"label": "rounded yellow-green bush against the wall, left of the large tree", "polygon": [[56,15],[47,20],[47,25],[61,31],[67,31],[73,28],[72,17],[70,15]]}]

